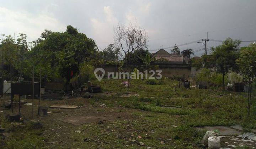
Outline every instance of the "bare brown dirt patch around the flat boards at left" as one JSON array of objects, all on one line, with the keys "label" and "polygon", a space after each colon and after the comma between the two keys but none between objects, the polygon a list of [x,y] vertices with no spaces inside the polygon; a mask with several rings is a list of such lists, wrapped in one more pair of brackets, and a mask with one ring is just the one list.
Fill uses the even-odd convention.
[{"label": "bare brown dirt patch around the flat boards at left", "polygon": [[[21,99],[25,100],[27,103],[32,103],[32,99]],[[78,105],[77,109],[52,109],[48,108],[48,115],[47,116],[38,116],[38,99],[34,99],[34,107],[33,107],[33,118],[31,117],[32,113],[32,105],[22,105],[21,107],[21,119],[23,120],[36,120],[43,124],[45,131],[43,132],[42,136],[46,137],[45,143],[47,148],[54,148],[62,146],[66,147],[74,147],[74,143],[84,140],[77,140],[71,135],[75,131],[82,131],[81,125],[72,125],[70,123],[59,121],[58,119],[65,119],[66,117],[70,116],[111,116],[114,117],[113,119],[106,120],[108,123],[111,123],[115,119],[118,120],[126,120],[133,118],[129,115],[128,112],[120,112],[121,108],[108,108],[105,107],[104,104],[99,105],[90,105],[88,99],[82,97],[75,97],[70,99],[64,100],[41,100],[40,105]],[[2,105],[2,103],[1,103]],[[130,109],[131,110],[131,109]],[[1,117],[5,117],[5,115],[11,113],[10,109],[1,108],[0,113]],[[18,107],[15,105],[14,113],[18,112]],[[87,126],[90,125],[102,125],[106,121],[99,121],[93,123],[87,123]],[[111,130],[110,130],[111,132]],[[78,132],[75,132],[78,133]]]}]

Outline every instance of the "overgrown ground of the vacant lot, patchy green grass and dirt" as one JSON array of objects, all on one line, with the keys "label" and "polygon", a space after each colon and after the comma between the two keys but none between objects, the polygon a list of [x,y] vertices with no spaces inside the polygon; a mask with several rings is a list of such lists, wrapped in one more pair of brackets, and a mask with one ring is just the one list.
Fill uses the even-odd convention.
[{"label": "overgrown ground of the vacant lot, patchy green grass and dirt", "polygon": [[[177,82],[170,79],[160,81],[159,85],[132,80],[130,88],[121,82],[103,79],[98,83],[103,93],[91,94],[90,99],[43,100],[43,105],[81,107],[61,112],[48,109],[51,113],[44,117],[36,116],[35,112],[34,119],[39,120],[42,127],[30,123],[13,126],[4,118],[11,111],[3,110],[1,125],[11,133],[10,137],[1,139],[0,148],[205,148],[201,144],[205,131],[198,131],[196,127],[240,124],[244,131],[256,128],[256,108],[253,106],[251,116],[247,116],[245,93],[222,92],[218,88],[177,88],[175,91]],[[35,100],[35,105],[37,102]],[[22,106],[23,119],[31,119],[31,108]],[[78,126],[58,120],[86,115],[115,118]],[[81,132],[75,132],[77,130]]]}]

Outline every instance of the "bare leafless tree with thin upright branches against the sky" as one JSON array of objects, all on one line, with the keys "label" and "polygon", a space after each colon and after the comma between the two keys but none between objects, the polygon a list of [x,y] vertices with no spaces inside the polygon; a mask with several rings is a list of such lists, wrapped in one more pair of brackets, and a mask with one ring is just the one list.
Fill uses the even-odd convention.
[{"label": "bare leafless tree with thin upright branches against the sky", "polygon": [[137,23],[128,26],[117,24],[114,29],[114,47],[118,49],[118,54],[123,58],[126,57],[126,66],[129,62],[129,54],[135,50],[144,49],[148,44],[148,33]]}]

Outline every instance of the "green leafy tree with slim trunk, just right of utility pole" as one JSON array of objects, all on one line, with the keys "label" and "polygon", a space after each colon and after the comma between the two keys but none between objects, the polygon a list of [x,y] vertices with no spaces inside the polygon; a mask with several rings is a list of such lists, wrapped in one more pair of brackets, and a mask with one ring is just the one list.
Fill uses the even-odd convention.
[{"label": "green leafy tree with slim trunk, just right of utility pole", "polygon": [[233,40],[227,38],[222,45],[218,45],[212,48],[212,56],[210,57],[210,64],[212,67],[222,73],[222,86],[225,90],[225,75],[230,70],[237,68],[236,59],[238,59],[240,40]]}]

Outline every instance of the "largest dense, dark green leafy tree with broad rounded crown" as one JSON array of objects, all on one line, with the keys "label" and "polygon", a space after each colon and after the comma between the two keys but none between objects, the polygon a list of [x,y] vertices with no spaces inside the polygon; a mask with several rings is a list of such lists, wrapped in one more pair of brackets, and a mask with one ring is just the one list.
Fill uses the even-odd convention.
[{"label": "largest dense, dark green leafy tree with broad rounded crown", "polygon": [[96,54],[94,40],[70,25],[64,33],[46,30],[42,38],[32,50],[38,57],[44,55],[42,61],[59,71],[66,80],[66,87],[73,76],[80,74],[81,64]]}]

